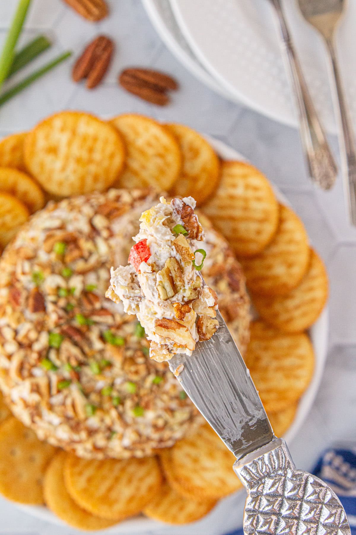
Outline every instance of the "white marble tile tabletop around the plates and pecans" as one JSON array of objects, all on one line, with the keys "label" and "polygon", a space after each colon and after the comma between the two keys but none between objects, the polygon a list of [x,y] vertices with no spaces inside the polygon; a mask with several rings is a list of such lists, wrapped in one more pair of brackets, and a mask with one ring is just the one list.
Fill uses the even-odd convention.
[{"label": "white marble tile tabletop around the plates and pecans", "polygon": [[[162,0],[162,2],[167,0]],[[0,45],[16,5],[0,0]],[[164,121],[186,123],[219,137],[245,155],[288,197],[302,217],[315,248],[330,274],[330,340],[325,375],[314,407],[299,437],[290,445],[298,467],[311,469],[323,448],[335,440],[356,440],[356,229],[347,223],[341,182],[330,193],[314,189],[305,173],[298,134],[243,106],[228,102],[196,81],[177,63],[157,36],[140,0],[108,0],[111,16],[93,25],[77,17],[61,0],[34,0],[22,42],[39,31],[53,38],[54,47],[35,63],[59,51],[73,49],[100,33],[115,40],[116,53],[104,85],[87,91],[70,81],[74,59],[62,64],[35,86],[0,109],[0,136],[25,130],[50,113],[64,108],[107,116],[139,112]],[[150,66],[171,73],[180,90],[172,103],[157,108],[124,93],[117,73],[125,66]],[[33,65],[35,66],[35,65]],[[32,68],[32,67],[31,67]],[[23,73],[17,75],[21,78]],[[337,149],[335,139],[331,139]],[[233,497],[231,515],[221,513],[189,528],[165,528],[169,535],[221,535],[241,525],[243,497]],[[75,530],[50,525],[0,498],[0,535],[67,535]],[[147,534],[148,535],[148,534]]]}]

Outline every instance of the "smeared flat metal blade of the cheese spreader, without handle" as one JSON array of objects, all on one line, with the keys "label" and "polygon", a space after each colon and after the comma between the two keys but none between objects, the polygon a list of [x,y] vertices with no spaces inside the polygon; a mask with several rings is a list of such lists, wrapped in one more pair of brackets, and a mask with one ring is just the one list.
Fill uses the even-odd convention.
[{"label": "smeared flat metal blade of the cheese spreader, without handle", "polygon": [[219,328],[198,342],[191,356],[169,361],[177,379],[226,446],[240,459],[270,442],[274,435],[250,373],[219,311]]}]

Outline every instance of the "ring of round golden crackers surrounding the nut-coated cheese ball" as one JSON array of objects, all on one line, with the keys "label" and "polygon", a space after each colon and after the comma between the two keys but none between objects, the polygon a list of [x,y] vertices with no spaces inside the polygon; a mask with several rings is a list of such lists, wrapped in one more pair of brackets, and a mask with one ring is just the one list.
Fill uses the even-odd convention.
[{"label": "ring of round golden crackers surrounding the nut-coated cheese ball", "polygon": [[[0,142],[0,246],[46,200],[148,186],[192,195],[241,262],[256,309],[244,358],[281,436],[313,375],[306,331],[326,303],[328,280],[302,221],[255,167],[220,161],[183,125],[58,113]],[[75,528],[103,529],[141,512],[184,524],[241,487],[233,454],[207,424],[156,457],[93,461],[39,441],[3,402],[0,421],[0,493],[46,503]]]}]

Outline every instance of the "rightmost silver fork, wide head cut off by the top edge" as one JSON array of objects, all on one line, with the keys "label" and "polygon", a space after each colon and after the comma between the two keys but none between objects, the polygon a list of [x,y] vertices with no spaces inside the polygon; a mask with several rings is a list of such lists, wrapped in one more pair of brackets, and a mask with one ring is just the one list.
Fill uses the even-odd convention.
[{"label": "rightmost silver fork, wide head cut off by the top edge", "polygon": [[319,30],[327,45],[330,75],[334,79],[334,109],[339,124],[344,190],[351,223],[356,226],[356,144],[336,53],[336,34],[346,0],[298,0],[298,3],[304,18]]}]

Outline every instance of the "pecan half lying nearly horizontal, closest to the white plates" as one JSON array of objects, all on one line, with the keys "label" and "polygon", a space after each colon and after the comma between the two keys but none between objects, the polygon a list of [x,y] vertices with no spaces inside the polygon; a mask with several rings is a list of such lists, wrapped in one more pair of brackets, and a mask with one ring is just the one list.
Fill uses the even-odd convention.
[{"label": "pecan half lying nearly horizontal, closest to the white plates", "polygon": [[178,89],[176,80],[167,74],[146,68],[126,68],[118,81],[129,93],[159,106],[169,103],[167,91]]}]

